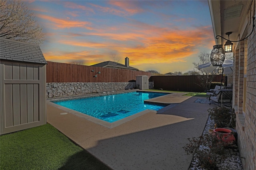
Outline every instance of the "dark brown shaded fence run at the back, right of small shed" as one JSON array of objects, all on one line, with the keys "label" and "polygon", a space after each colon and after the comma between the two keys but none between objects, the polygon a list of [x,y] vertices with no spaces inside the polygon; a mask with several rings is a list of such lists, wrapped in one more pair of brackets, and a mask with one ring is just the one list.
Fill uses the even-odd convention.
[{"label": "dark brown shaded fence run at the back, right of small shed", "polygon": [[[221,75],[216,75],[213,82],[220,82]],[[154,89],[204,92],[204,87],[199,86],[198,76],[151,76],[149,81],[154,81]]]}]

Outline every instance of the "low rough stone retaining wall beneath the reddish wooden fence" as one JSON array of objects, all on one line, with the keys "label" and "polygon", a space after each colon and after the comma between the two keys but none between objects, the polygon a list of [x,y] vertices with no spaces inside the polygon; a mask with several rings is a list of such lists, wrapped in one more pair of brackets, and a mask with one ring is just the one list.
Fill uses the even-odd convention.
[{"label": "low rough stone retaining wall beneath the reddish wooden fence", "polygon": [[[149,82],[152,89],[153,82]],[[46,83],[46,97],[55,98],[81,94],[99,93],[102,91],[121,91],[136,88],[136,82],[70,82],[70,83]]]}]

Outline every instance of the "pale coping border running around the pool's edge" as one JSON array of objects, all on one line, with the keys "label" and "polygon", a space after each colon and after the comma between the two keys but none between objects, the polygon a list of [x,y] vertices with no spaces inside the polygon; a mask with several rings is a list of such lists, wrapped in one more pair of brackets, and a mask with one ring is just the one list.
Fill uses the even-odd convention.
[{"label": "pale coping border running around the pool's edge", "polygon": [[[150,91],[146,91],[146,90],[143,91],[143,90],[138,90],[138,89],[136,89],[136,90],[119,91],[119,92],[117,92],[117,93],[115,93],[115,94],[122,94],[122,93],[136,92],[136,91],[140,91],[140,92],[150,92]],[[160,92],[160,93],[162,93],[162,92]],[[168,93],[168,92],[167,92],[167,93]],[[169,93],[169,94],[171,94],[171,93]],[[75,110],[73,110],[73,109],[69,109],[69,108],[64,107],[64,106],[60,106],[60,105],[55,104],[55,103],[52,102],[52,101],[57,101],[57,100],[62,100],[62,101],[63,101],[63,100],[70,100],[70,99],[77,99],[77,98],[90,98],[90,97],[97,97],[97,96],[104,96],[104,94],[89,94],[89,95],[64,96],[64,97],[58,97],[58,98],[51,98],[51,99],[47,99],[47,104],[49,104],[49,105],[51,105],[51,106],[54,106],[54,107],[57,107],[58,109],[62,109],[62,110],[64,110],[64,111],[66,111],[67,113],[72,113],[72,114],[74,114],[74,115],[76,115],[76,116],[78,116],[78,117],[81,117],[81,118],[83,118],[83,119],[86,119],[86,120],[88,120],[88,121],[91,121],[91,122],[93,122],[93,123],[96,123],[96,124],[98,124],[98,125],[102,125],[102,126],[104,126],[104,127],[107,127],[107,128],[109,128],[109,129],[114,128],[114,127],[117,127],[117,126],[119,126],[119,125],[122,125],[123,123],[126,123],[126,122],[128,122],[128,121],[130,121],[130,120],[132,120],[132,119],[135,119],[135,118],[137,118],[137,117],[140,117],[140,116],[142,116],[142,115],[144,115],[144,114],[146,114],[146,113],[149,113],[149,112],[157,113],[156,110],[146,109],[146,110],[144,110],[144,111],[140,111],[140,112],[138,112],[138,113],[135,113],[135,114],[133,114],[133,115],[130,115],[130,116],[128,116],[128,117],[125,117],[125,118],[123,118],[123,119],[120,119],[120,120],[118,120],[118,121],[114,121],[114,122],[110,123],[110,122],[107,122],[107,121],[98,119],[98,118],[96,118],[96,117],[92,117],[92,116],[90,116],[90,115],[86,115],[86,114],[81,113],[81,112],[79,112],[79,111],[75,111]],[[156,98],[161,98],[161,97],[162,97],[162,96],[159,96],[159,97],[156,97]],[[150,100],[150,99],[149,99],[149,100]],[[163,105],[163,106],[168,106],[168,105],[170,105],[170,104],[168,104],[168,103],[150,102],[149,100],[144,100],[144,103],[156,104],[156,105]],[[164,107],[164,108],[165,108],[165,107]],[[162,109],[164,109],[164,108],[162,108]],[[161,109],[160,109],[160,110],[161,110]],[[160,110],[158,110],[158,111],[160,111]]]}]

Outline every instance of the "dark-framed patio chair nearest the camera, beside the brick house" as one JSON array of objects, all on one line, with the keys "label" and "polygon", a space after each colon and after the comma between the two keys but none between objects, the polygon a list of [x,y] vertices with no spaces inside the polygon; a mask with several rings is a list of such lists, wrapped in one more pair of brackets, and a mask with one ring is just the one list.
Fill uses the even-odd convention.
[{"label": "dark-framed patio chair nearest the camera, beside the brick house", "polygon": [[[210,96],[209,100],[212,100],[217,103],[231,103],[233,96],[233,90],[220,89],[216,96]],[[211,102],[210,102],[211,104]]]}]

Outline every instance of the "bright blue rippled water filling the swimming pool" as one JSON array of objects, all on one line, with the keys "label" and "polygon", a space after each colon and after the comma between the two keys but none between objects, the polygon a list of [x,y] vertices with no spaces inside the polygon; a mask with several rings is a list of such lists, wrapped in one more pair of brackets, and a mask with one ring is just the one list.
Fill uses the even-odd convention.
[{"label": "bright blue rippled water filling the swimming pool", "polygon": [[162,109],[164,106],[144,104],[144,100],[163,95],[166,93],[130,92],[54,103],[112,123],[146,109]]}]

